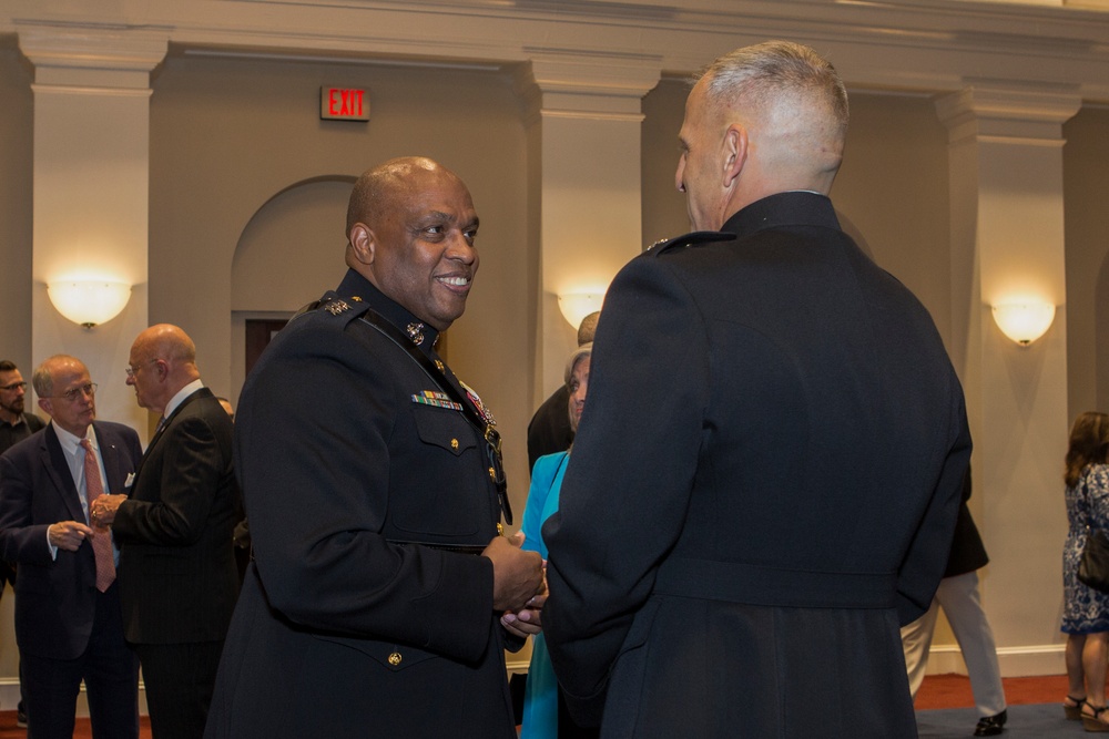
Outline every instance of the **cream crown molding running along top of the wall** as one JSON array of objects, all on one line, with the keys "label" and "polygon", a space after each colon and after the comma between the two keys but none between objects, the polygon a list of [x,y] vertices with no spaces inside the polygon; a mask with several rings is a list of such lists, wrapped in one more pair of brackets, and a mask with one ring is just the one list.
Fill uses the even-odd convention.
[{"label": "cream crown molding running along top of the wall", "polygon": [[[48,6],[48,7],[40,7]],[[813,45],[853,89],[948,93],[971,78],[1065,85],[1109,101],[1109,0],[0,0],[0,32],[68,28],[113,42],[164,38],[228,59],[492,66],[556,55],[688,74],[770,38]],[[83,9],[81,13],[72,7]],[[101,7],[104,6],[104,7]],[[33,45],[33,43],[32,43]],[[153,53],[153,52],[152,52]],[[579,62],[570,61],[573,57]],[[31,53],[28,58],[34,62]],[[40,54],[41,59],[41,54]],[[625,70],[627,71],[627,70]]]}]

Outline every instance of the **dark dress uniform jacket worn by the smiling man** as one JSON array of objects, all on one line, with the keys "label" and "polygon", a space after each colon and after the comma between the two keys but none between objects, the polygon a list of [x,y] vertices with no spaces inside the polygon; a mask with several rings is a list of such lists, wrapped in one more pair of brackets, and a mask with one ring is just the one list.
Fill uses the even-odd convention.
[{"label": "dark dress uniform jacket worn by the smiling man", "polygon": [[355,271],[336,292],[350,309],[294,318],[240,400],[255,562],[205,736],[515,737],[492,563],[424,546],[497,535],[484,440],[359,320],[417,319]]}]

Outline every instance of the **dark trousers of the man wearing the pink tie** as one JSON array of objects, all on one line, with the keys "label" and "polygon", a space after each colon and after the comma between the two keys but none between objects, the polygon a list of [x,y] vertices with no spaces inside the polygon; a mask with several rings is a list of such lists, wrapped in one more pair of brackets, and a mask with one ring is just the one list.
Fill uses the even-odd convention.
[{"label": "dark trousers of the man wearing the pink tie", "polygon": [[29,739],[72,739],[84,680],[95,739],[138,739],[139,659],[123,640],[118,586],[96,595],[89,646],[77,659],[22,655]]}]

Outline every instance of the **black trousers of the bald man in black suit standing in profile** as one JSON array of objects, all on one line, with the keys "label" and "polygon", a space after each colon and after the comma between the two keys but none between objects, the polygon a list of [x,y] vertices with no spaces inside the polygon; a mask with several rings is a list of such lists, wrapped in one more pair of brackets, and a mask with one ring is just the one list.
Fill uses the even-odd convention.
[{"label": "black trousers of the bald man in black suit standing in profile", "polygon": [[153,739],[200,739],[223,642],[135,644]]}]

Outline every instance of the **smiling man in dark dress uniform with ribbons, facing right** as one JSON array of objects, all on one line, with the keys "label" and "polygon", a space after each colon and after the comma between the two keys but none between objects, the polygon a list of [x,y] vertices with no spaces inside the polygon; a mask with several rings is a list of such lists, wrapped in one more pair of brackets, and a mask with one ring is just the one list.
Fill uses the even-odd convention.
[{"label": "smiling man in dark dress uniform with ribbons, facing right", "polygon": [[503,650],[523,632],[501,618],[537,594],[542,560],[498,535],[492,414],[435,351],[477,230],[439,164],[365,173],[346,277],[247,378],[235,464],[254,562],[208,739],[516,737]]}]

